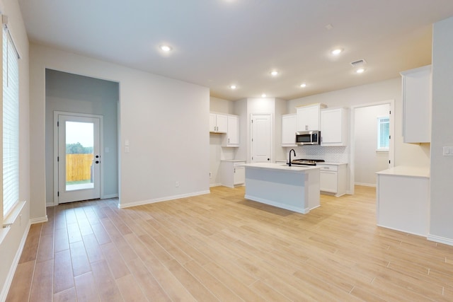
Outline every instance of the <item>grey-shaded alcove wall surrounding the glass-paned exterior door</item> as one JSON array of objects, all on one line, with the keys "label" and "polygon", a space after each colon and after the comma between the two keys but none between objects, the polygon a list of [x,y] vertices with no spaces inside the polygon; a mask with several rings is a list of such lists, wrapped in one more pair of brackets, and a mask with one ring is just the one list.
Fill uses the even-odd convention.
[{"label": "grey-shaded alcove wall surrounding the glass-paned exterior door", "polygon": [[86,113],[103,116],[103,146],[101,150],[103,178],[101,198],[118,196],[118,129],[117,82],[93,79],[51,69],[45,74],[46,128],[46,202],[54,204],[54,111]]}]

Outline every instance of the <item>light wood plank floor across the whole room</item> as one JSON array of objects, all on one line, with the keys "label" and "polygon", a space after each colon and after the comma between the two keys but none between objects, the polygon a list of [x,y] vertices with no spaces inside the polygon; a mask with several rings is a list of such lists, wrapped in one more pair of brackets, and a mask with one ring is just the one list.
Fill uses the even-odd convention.
[{"label": "light wood plank floor across the whole room", "polygon": [[377,227],[373,188],[306,215],[211,191],[48,208],[7,301],[453,301],[453,247]]}]

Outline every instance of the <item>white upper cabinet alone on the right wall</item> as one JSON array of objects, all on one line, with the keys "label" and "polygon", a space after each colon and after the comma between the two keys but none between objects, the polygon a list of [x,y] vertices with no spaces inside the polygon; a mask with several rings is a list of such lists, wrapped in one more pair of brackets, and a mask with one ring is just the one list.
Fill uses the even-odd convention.
[{"label": "white upper cabinet alone on the right wall", "polygon": [[405,143],[431,141],[431,65],[401,72]]}]

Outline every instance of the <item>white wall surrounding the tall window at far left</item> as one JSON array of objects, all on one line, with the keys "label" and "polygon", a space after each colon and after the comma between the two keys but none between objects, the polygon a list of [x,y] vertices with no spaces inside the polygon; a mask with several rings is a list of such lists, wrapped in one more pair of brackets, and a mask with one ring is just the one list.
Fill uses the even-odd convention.
[{"label": "white wall surrounding the tall window at far left", "polygon": [[[0,12],[8,16],[8,28],[13,36],[19,59],[19,199],[26,201],[21,219],[10,228],[0,228],[0,301],[6,298],[14,270],[20,257],[30,226],[30,103],[29,103],[29,57],[28,37],[16,0],[1,1]],[[1,97],[0,97],[1,98]],[[3,207],[0,207],[3,213]],[[0,223],[3,224],[2,214]]]}]

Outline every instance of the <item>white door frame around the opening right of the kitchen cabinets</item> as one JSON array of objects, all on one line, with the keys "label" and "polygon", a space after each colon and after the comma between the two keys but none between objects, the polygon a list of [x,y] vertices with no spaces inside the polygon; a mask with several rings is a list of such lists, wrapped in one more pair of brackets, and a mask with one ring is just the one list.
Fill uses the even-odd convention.
[{"label": "white door frame around the opening right of the kitchen cabinets", "polygon": [[380,102],[360,104],[351,106],[351,117],[350,117],[350,178],[349,178],[349,194],[354,194],[354,184],[355,184],[355,110],[357,108],[372,107],[377,105],[386,105],[389,104],[390,112],[390,124],[389,124],[389,168],[394,167],[395,165],[395,100],[382,100]]}]

